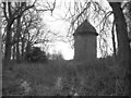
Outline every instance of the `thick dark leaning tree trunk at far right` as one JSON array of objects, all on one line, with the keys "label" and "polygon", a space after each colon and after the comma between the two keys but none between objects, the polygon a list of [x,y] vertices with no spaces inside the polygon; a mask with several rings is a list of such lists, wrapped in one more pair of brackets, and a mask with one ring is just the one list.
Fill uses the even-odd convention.
[{"label": "thick dark leaning tree trunk at far right", "polygon": [[122,70],[119,75],[120,79],[124,79],[124,93],[123,95],[129,95],[129,79],[128,69],[129,69],[129,38],[127,30],[127,23],[124,15],[122,13],[121,3],[119,2],[109,2],[112,8],[115,22],[116,22],[116,32],[118,38],[118,62],[119,68]]}]

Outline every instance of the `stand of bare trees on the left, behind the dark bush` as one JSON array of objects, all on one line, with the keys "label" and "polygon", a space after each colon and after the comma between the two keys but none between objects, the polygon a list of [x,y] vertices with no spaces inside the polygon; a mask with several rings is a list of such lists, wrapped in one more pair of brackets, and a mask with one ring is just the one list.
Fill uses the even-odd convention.
[{"label": "stand of bare trees on the left, behind the dark bush", "polygon": [[[2,2],[2,51],[3,64],[10,65],[11,60],[21,62],[34,51],[34,45],[46,46],[49,30],[43,30],[41,13],[52,12],[55,2],[38,8],[38,2]],[[38,48],[35,48],[38,49]],[[39,50],[39,49],[38,49]],[[39,50],[41,52],[41,50]],[[44,52],[45,53],[45,52]],[[44,54],[45,56],[45,54]]]}]

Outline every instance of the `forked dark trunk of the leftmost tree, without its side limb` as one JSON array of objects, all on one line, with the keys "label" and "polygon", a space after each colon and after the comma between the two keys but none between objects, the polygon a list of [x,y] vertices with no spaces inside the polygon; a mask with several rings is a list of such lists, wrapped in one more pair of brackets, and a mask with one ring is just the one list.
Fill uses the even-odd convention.
[{"label": "forked dark trunk of the leftmost tree, without its side limb", "polygon": [[[7,8],[8,8],[8,12],[7,12]],[[7,37],[5,37],[5,51],[4,51],[4,65],[9,66],[11,69],[11,38],[12,38],[12,29],[11,26],[14,22],[14,20],[12,19],[12,12],[11,12],[11,2],[8,2],[8,7],[7,7],[7,2],[3,2],[3,13],[7,20]],[[9,14],[8,14],[9,13]],[[9,16],[9,17],[8,17]]]}]

